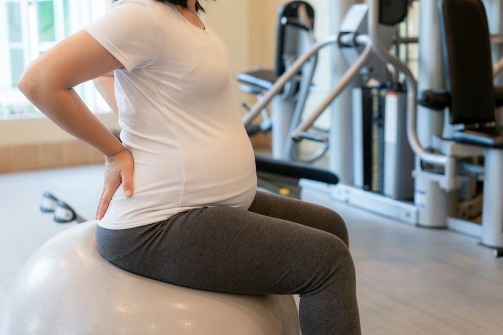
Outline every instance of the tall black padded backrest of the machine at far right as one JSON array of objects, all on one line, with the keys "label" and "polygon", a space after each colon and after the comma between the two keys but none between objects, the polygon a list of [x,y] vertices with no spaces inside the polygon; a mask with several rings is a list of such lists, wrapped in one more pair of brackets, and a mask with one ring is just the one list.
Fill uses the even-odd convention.
[{"label": "tall black padded backrest of the machine at far right", "polygon": [[495,118],[489,28],[481,0],[439,4],[451,123],[476,124]]}]

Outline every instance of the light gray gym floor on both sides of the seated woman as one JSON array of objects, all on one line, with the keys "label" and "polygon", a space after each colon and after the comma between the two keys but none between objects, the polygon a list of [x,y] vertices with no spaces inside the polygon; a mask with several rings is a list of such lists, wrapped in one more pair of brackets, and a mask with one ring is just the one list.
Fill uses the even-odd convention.
[{"label": "light gray gym floor on both sides of the seated woman", "polygon": [[[0,174],[0,313],[7,292],[30,255],[75,224],[57,224],[39,210],[50,191],[92,219],[103,166],[88,165]],[[342,203],[357,270],[364,334],[501,334],[503,259],[475,239],[428,230]],[[297,297],[298,302],[298,297]]]}]

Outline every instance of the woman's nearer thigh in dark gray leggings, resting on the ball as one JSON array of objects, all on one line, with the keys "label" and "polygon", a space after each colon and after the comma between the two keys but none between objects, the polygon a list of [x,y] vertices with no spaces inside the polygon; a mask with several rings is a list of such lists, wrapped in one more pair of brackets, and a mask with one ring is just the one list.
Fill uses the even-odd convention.
[{"label": "woman's nearer thigh in dark gray leggings, resting on the ball", "polygon": [[295,222],[204,207],[154,225],[133,252],[111,262],[156,280],[229,293],[306,294],[336,269],[354,281],[346,244]]}]

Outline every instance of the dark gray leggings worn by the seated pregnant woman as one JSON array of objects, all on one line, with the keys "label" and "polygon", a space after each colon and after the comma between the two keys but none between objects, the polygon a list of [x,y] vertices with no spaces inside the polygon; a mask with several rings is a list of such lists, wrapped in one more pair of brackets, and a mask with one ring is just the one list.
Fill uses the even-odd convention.
[{"label": "dark gray leggings worn by the seated pregnant woman", "polygon": [[103,256],[163,282],[299,294],[303,335],[360,334],[348,231],[336,212],[258,191],[248,210],[203,207],[125,230],[97,228]]}]

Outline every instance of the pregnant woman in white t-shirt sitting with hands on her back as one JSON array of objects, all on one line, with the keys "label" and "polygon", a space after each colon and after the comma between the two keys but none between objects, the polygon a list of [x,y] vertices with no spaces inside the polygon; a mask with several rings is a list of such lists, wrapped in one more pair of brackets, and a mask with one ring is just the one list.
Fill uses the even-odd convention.
[{"label": "pregnant woman in white t-shirt sitting with hands on her back", "polygon": [[[232,62],[201,11],[196,0],[117,1],[35,60],[19,88],[105,155],[96,240],[111,263],[202,290],[299,294],[304,335],[359,334],[344,221],[257,191]],[[91,79],[122,143],[72,89]]]}]

